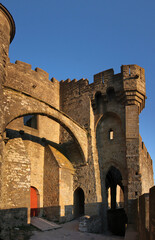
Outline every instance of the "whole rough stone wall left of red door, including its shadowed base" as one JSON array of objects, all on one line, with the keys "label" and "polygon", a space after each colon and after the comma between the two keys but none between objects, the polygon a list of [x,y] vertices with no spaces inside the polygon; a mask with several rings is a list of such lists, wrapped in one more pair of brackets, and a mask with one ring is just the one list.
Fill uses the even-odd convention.
[{"label": "whole rough stone wall left of red door, including its shadowed base", "polygon": [[2,164],[0,235],[9,229],[30,222],[30,173],[31,164],[21,138],[10,139],[5,145]]}]

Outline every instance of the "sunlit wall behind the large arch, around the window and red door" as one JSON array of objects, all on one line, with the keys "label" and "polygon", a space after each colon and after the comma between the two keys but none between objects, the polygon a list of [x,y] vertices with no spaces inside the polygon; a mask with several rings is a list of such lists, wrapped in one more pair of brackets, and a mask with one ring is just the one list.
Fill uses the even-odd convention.
[{"label": "sunlit wall behind the large arch, around the window and red door", "polygon": [[42,138],[58,143],[59,124],[48,117],[38,115],[37,129],[25,126],[23,117],[11,122],[7,128],[7,135],[10,138],[19,137],[19,131],[24,131],[22,138],[31,163],[31,186],[38,190],[40,198],[39,207],[42,208],[44,189],[44,142]]}]

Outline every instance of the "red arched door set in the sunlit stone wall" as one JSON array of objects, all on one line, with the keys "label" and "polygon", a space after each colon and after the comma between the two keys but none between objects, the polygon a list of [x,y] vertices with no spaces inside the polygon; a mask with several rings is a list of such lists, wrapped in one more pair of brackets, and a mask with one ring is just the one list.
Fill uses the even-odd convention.
[{"label": "red arched door set in the sunlit stone wall", "polygon": [[31,217],[36,217],[39,214],[39,192],[35,187],[30,189],[30,207]]}]

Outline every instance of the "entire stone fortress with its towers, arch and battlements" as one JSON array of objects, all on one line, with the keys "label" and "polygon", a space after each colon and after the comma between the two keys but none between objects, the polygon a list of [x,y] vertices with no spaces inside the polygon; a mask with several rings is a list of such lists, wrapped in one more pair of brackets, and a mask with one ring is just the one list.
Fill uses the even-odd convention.
[{"label": "entire stone fortress with its towers, arch and battlements", "polygon": [[30,221],[31,188],[37,215],[59,221],[98,215],[106,230],[107,191],[116,210],[118,185],[132,222],[134,200],[154,184],[152,160],[139,135],[144,69],[123,65],[119,74],[100,72],[90,84],[50,81],[40,68],[10,63],[15,24],[2,4],[0,33],[1,228]]}]

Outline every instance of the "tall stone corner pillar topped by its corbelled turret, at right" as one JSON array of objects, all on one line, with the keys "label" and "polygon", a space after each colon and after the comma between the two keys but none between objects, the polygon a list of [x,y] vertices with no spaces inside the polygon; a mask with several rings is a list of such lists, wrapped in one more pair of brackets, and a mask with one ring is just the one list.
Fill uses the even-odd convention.
[{"label": "tall stone corner pillar topped by its corbelled turret, at right", "polygon": [[[145,72],[143,68],[137,65],[123,65],[121,74],[124,94],[123,102],[125,105],[128,200],[131,200],[142,194],[139,152],[139,113],[145,107]],[[130,204],[128,207],[131,207]]]}]

